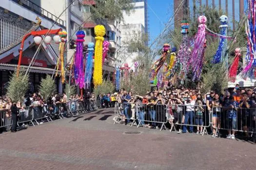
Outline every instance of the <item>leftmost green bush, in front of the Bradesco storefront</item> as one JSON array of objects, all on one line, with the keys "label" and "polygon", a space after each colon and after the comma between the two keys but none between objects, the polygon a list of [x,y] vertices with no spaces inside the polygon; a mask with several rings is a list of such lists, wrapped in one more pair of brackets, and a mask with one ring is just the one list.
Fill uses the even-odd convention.
[{"label": "leftmost green bush, in front of the Bradesco storefront", "polygon": [[28,88],[28,76],[20,70],[19,77],[17,77],[17,70],[12,73],[11,79],[7,85],[7,95],[13,101],[22,102],[22,98],[25,96]]}]

